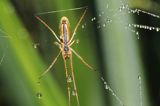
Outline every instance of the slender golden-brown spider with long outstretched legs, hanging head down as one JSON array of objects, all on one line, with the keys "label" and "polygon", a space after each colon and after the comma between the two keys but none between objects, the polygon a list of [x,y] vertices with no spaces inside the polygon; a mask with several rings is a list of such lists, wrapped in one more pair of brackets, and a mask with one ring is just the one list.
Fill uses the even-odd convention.
[{"label": "slender golden-brown spider with long outstretched legs, hanging head down", "polygon": [[[75,54],[88,68],[90,68],[91,70],[95,70],[75,50],[73,50],[71,48],[71,46],[75,43],[74,36],[76,35],[77,29],[78,29],[81,21],[83,20],[86,12],[87,12],[87,7],[75,8],[75,9],[83,9],[83,8],[85,8],[85,10],[84,10],[82,16],[80,17],[80,19],[78,20],[78,22],[74,28],[72,36],[70,36],[70,23],[69,23],[69,20],[67,17],[63,16],[60,20],[60,24],[59,24],[60,33],[59,33],[59,37],[58,37],[57,34],[54,32],[54,30],[49,25],[47,25],[47,23],[45,21],[43,21],[39,16],[35,16],[46,28],[48,28],[51,31],[51,33],[57,39],[57,42],[55,42],[55,44],[60,49],[56,58],[53,60],[53,62],[47,68],[47,70],[45,70],[41,74],[39,79],[41,79],[53,67],[53,65],[56,63],[58,57],[60,56],[60,54],[62,54],[62,57],[64,60],[65,72],[66,72],[66,79],[68,79],[70,77],[70,75],[68,74],[69,70],[67,68],[66,60],[67,59],[70,60],[71,79],[73,80],[73,87],[74,87],[74,92],[75,92],[78,106],[80,106],[80,102],[79,102],[79,97],[78,97],[77,87],[76,87],[76,82],[75,82],[75,77],[74,77],[72,53]],[[68,10],[74,10],[74,9],[68,9]],[[65,10],[60,10],[60,11],[65,11]],[[67,81],[67,85],[68,85],[68,101],[69,101],[69,106],[70,106],[71,105],[71,85],[70,85],[69,81]]]}]

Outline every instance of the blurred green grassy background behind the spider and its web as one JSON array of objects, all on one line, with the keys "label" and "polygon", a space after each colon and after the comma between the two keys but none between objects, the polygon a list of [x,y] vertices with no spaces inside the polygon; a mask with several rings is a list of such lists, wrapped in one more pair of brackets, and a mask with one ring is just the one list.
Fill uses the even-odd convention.
[{"label": "blurred green grassy background behind the spider and its web", "polygon": [[[56,41],[53,35],[34,15],[83,6],[88,6],[88,11],[78,27],[75,39],[79,43],[73,49],[97,72],[90,71],[73,56],[81,106],[121,106],[105,89],[101,76],[125,106],[141,106],[141,103],[159,106],[160,33],[135,29],[140,34],[137,39],[126,27],[129,23],[158,27],[160,20],[143,13],[121,12],[120,6],[126,2],[132,9],[160,14],[158,0],[0,0],[0,58],[3,60],[0,62],[0,106],[68,106],[62,56],[41,83],[37,83],[38,76],[50,65],[59,48],[53,44]],[[83,12],[84,9],[66,11],[41,15],[41,18],[58,34],[60,18],[67,16],[73,32]],[[72,106],[77,106],[75,97],[71,98]]]}]

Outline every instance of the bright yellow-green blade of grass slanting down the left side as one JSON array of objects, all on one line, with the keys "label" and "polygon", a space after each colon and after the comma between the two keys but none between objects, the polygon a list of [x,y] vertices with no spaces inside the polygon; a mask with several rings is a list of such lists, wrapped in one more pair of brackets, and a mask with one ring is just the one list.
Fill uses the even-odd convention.
[{"label": "bright yellow-green blade of grass slanting down the left side", "polygon": [[[1,0],[0,7],[0,25],[11,36],[6,38],[7,59],[3,66],[9,89],[14,94],[10,96],[19,106],[65,106],[64,95],[51,77],[46,78],[46,86],[37,85],[37,78],[44,70],[44,65],[13,6],[8,0]],[[36,97],[38,90],[42,92],[40,100]]]}]

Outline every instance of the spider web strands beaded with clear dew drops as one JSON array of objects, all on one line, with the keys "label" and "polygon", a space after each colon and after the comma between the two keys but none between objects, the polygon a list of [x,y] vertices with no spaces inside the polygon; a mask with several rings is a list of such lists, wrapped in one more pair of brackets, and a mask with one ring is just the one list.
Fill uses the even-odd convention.
[{"label": "spider web strands beaded with clear dew drops", "polygon": [[[108,12],[112,12],[114,14],[112,16],[104,17],[104,15],[108,14]],[[98,16],[93,16],[89,20],[91,23],[96,24],[97,30],[101,30],[102,28],[107,28],[113,22],[121,22],[123,28],[135,33],[135,35],[137,36],[137,39],[140,39],[139,30],[137,30],[137,29],[144,29],[144,30],[156,31],[156,32],[160,31],[159,27],[149,26],[149,25],[144,25],[144,24],[127,23],[127,22],[121,21],[120,18],[117,18],[117,17],[120,17],[121,15],[128,15],[128,14],[129,15],[146,14],[146,15],[153,17],[153,18],[157,18],[157,19],[160,18],[159,15],[156,15],[156,14],[153,14],[153,13],[150,13],[145,10],[138,9],[138,8],[132,9],[129,7],[129,5],[127,3],[121,2],[120,6],[114,10],[111,9],[110,4],[106,3],[106,6],[104,7],[104,11],[99,12]],[[86,29],[87,25],[88,25],[88,23],[84,22],[81,25],[81,28]],[[1,38],[10,38],[9,36],[7,36],[8,34],[5,31],[0,29],[0,32],[3,33],[3,36],[0,36]],[[36,49],[38,46],[40,46],[40,43],[33,43],[32,45],[33,45],[33,48]],[[5,59],[5,52],[2,53],[2,57],[0,58],[0,65],[2,65],[4,59]],[[108,90],[109,92],[111,92],[111,94],[115,97],[115,99],[119,102],[120,105],[124,106],[124,103],[122,102],[120,97],[118,97],[116,95],[116,93],[109,86],[109,84],[106,82],[106,80],[103,77],[100,77],[100,79],[103,82],[105,89]],[[141,77],[139,77],[138,79],[139,79],[139,89],[140,89],[140,103],[142,106]]]}]

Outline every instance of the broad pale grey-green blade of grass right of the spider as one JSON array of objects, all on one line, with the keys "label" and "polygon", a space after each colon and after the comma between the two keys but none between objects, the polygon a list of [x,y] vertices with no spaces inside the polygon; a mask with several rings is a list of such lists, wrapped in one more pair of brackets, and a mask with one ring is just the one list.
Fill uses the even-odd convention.
[{"label": "broad pale grey-green blade of grass right of the spider", "polygon": [[[109,9],[117,10],[121,2],[112,0],[109,1]],[[99,11],[104,11],[104,0],[97,1]],[[107,10],[106,10],[107,11]],[[104,17],[113,16],[114,12],[108,12]],[[116,19],[119,21],[115,21]],[[138,89],[138,76],[143,78],[143,105],[150,106],[148,102],[148,94],[146,88],[146,81],[144,75],[143,64],[139,54],[139,47],[137,45],[137,37],[134,33],[126,30],[123,23],[133,23],[132,17],[129,15],[117,15],[111,17],[113,22],[109,27],[101,30],[102,45],[105,64],[108,69],[106,71],[109,84],[119,98],[123,101],[125,106],[139,106],[140,97]],[[113,96],[112,96],[113,97]],[[118,102],[112,98],[113,106],[117,106]]]}]

